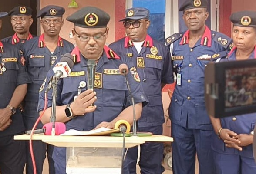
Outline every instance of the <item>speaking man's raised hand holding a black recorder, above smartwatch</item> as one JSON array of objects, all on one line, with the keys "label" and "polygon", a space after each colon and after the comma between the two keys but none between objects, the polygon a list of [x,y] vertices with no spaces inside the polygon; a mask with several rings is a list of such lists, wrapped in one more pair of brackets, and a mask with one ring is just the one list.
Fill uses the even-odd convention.
[{"label": "speaking man's raised hand holding a black recorder, above smartwatch", "polygon": [[84,115],[88,112],[94,112],[96,106],[91,106],[91,104],[96,100],[96,92],[92,89],[82,92],[70,105],[73,115]]}]

